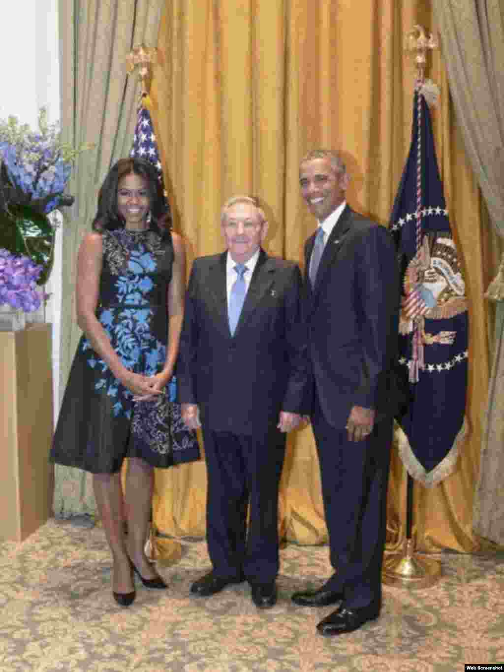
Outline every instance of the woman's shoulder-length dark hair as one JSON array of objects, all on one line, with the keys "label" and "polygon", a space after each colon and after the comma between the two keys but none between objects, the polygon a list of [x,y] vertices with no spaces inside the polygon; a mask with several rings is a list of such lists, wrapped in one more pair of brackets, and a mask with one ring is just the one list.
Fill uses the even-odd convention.
[{"label": "woman's shoulder-length dark hair", "polygon": [[119,159],[110,169],[98,193],[98,210],[92,227],[96,231],[124,228],[124,218],[117,208],[118,186],[124,175],[138,175],[145,180],[151,201],[151,229],[168,235],[171,226],[170,206],[163,194],[157,170],[144,159]]}]

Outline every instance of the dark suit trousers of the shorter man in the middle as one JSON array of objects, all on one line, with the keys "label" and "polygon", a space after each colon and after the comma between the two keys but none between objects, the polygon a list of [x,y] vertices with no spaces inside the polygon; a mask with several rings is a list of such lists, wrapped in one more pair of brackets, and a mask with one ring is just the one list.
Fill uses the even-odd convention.
[{"label": "dark suit trousers of the shorter man in the middle", "polygon": [[[286,435],[213,431],[203,423],[206,539],[215,575],[269,583],[278,574],[278,488]],[[247,526],[248,513],[248,526]]]}]

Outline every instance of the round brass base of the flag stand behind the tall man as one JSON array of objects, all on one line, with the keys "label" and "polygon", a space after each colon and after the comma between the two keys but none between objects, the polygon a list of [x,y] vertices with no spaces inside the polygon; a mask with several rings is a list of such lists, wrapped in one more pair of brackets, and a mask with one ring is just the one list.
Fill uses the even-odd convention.
[{"label": "round brass base of the flag stand behind the tall man", "polygon": [[401,553],[389,553],[383,560],[382,583],[412,589],[427,588],[441,576],[441,562],[419,557],[413,550],[413,539],[407,539]]}]

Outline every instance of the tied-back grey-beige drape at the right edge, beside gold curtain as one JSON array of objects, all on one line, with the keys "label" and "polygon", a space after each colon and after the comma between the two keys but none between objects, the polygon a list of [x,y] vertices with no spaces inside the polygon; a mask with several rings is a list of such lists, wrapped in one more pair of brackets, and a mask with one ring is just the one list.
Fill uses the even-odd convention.
[{"label": "tied-back grey-beige drape at the right edge, beside gold curtain", "polygon": [[[435,14],[450,54],[447,69],[464,144],[503,241],[504,5],[501,0],[450,0],[436,3]],[[496,246],[501,248],[502,243]],[[478,534],[504,544],[504,258],[487,296],[497,302],[497,319],[473,524]]]}]

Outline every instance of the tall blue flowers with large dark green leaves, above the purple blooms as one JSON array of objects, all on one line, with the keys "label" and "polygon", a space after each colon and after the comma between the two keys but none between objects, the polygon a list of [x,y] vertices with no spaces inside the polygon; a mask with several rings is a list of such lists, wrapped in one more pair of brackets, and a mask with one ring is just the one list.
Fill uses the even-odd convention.
[{"label": "tall blue flowers with large dark green leaves, above the purple blooms", "polygon": [[[14,116],[0,120],[0,248],[40,265],[39,285],[47,282],[52,268],[54,227],[47,215],[73,204],[73,196],[64,193],[72,164],[92,146],[75,149],[62,142],[59,125],[48,123],[45,108],[40,109],[36,132]],[[0,269],[4,282],[12,269]]]}]

